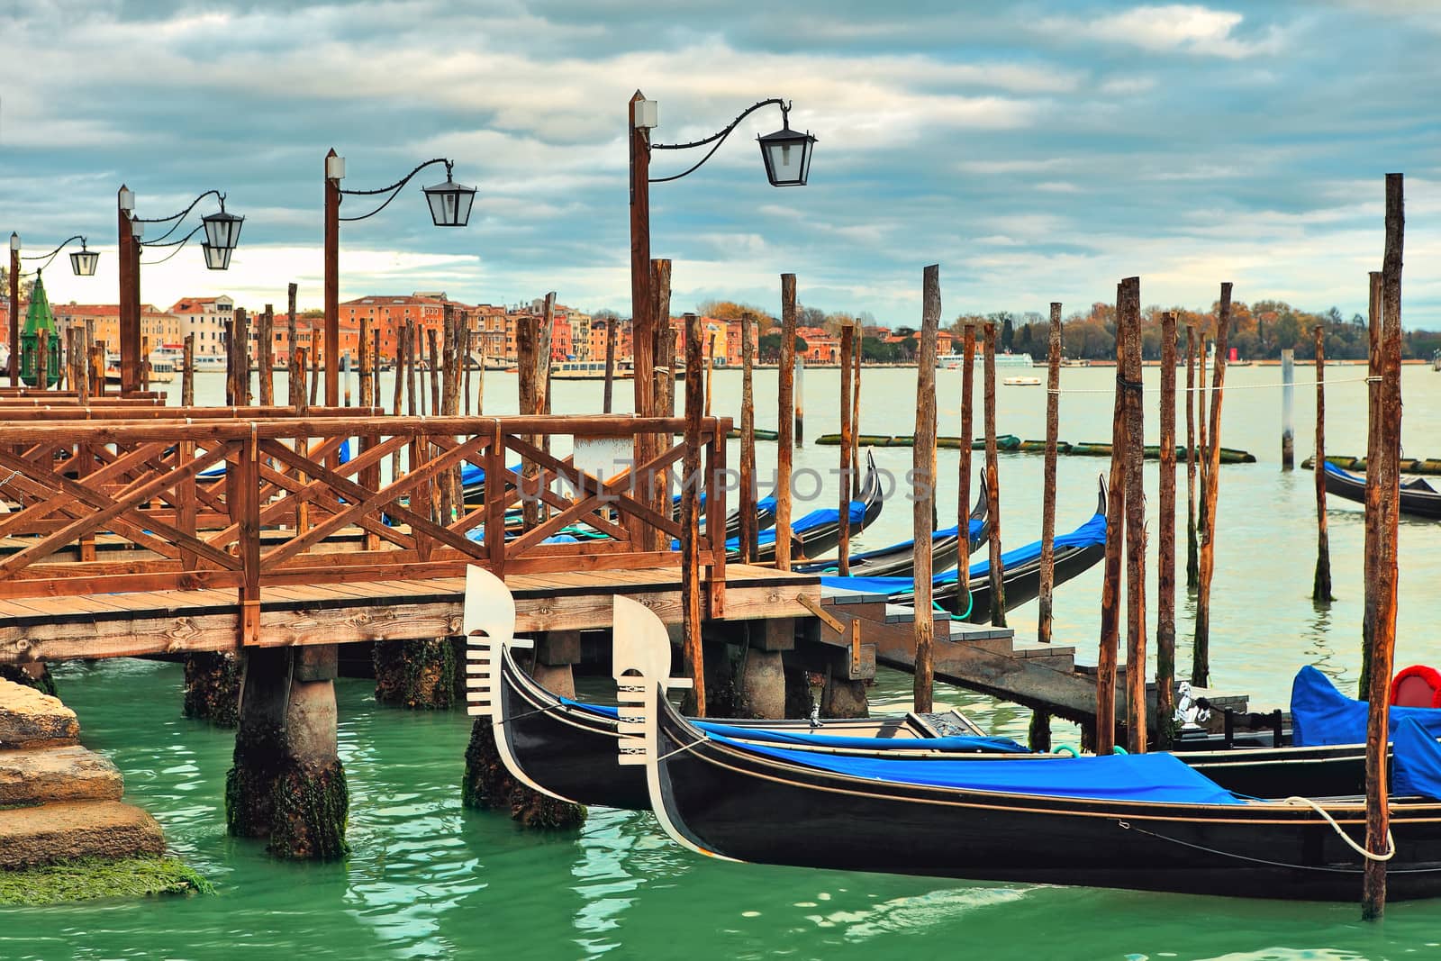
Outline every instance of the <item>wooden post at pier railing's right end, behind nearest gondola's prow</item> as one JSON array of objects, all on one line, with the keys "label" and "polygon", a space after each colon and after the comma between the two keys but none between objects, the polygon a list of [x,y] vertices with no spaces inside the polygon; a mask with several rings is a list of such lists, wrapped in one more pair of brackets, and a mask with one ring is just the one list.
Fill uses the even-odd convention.
[{"label": "wooden post at pier railing's right end, behind nearest gondola's prow", "polygon": [[[695,687],[686,694],[686,707],[697,718],[706,716],[705,656],[700,650],[700,497],[696,478],[700,475],[700,365],[705,344],[700,340],[700,318],[686,314],[686,455],[680,491],[680,607],[684,611],[682,664]],[[669,365],[667,365],[669,366]],[[669,504],[667,504],[669,510]],[[723,532],[712,536],[725,536]]]}]

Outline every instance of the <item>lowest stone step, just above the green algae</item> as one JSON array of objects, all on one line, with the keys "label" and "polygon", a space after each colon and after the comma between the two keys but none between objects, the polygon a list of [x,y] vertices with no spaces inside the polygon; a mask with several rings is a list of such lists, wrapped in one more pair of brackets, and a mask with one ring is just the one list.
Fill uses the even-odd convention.
[{"label": "lowest stone step, just above the green algae", "polygon": [[0,817],[0,867],[160,854],[164,847],[156,818],[120,801],[63,801]]}]

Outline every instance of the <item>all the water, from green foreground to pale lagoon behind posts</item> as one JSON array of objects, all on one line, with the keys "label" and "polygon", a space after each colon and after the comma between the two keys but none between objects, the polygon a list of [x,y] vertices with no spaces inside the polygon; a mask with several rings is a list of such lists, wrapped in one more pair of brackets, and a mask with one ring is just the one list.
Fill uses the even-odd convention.
[{"label": "all the water, from green foreground to pale lagoon behind posts", "polygon": [[[955,432],[960,375],[941,372],[942,432]],[[1362,370],[1331,367],[1329,379]],[[863,429],[908,434],[914,424],[911,370],[867,370]],[[1147,370],[1153,383],[1156,370]],[[1298,370],[1298,380],[1310,372]],[[774,426],[774,372],[758,375],[761,426]],[[1232,369],[1228,383],[1255,390],[1226,395],[1222,442],[1262,462],[1222,468],[1221,530],[1213,608],[1213,683],[1284,705],[1290,679],[1316,663],[1352,687],[1359,663],[1360,509],[1331,501],[1331,552],[1339,599],[1310,602],[1314,565],[1311,474],[1278,470],[1280,398],[1264,385],[1274,367]],[[219,386],[202,376],[202,402]],[[731,409],[739,376],[716,373],[716,399]],[[1062,399],[1063,439],[1104,439],[1110,429],[1110,370],[1065,372],[1063,388],[1098,390]],[[1441,415],[1441,375],[1404,375],[1402,439],[1415,457],[1441,457],[1432,428]],[[617,389],[624,399],[628,385]],[[598,385],[556,385],[556,411],[594,411]],[[385,389],[385,396],[389,390]],[[807,434],[837,425],[836,372],[806,375]],[[1147,395],[1153,396],[1153,395]],[[1298,388],[1297,460],[1311,451],[1311,392]],[[1329,390],[1329,450],[1365,451],[1363,385]],[[1001,432],[1043,437],[1045,392],[1001,388]],[[514,377],[487,375],[487,412],[514,411]],[[1147,412],[1147,439],[1156,418]],[[977,424],[980,418],[977,416]],[[1185,421],[1182,431],[1185,429]],[[761,470],[774,444],[759,445]],[[731,462],[736,462],[732,448]],[[798,467],[827,470],[836,448],[807,447]],[[904,474],[909,450],[878,451]],[[941,451],[942,477],[957,454]],[[1000,464],[1007,545],[1039,536],[1040,457]],[[1104,460],[1062,458],[1058,530],[1094,506]],[[833,483],[833,481],[831,481]],[[1148,465],[1156,503],[1157,473]],[[833,488],[830,488],[833,490]],[[1182,483],[1185,491],[1185,483]],[[813,506],[833,506],[826,493]],[[954,486],[941,491],[954,514]],[[909,537],[911,504],[888,504],[863,545]],[[811,506],[806,506],[806,510]],[[1153,509],[1154,511],[1154,509]],[[1153,514],[1154,516],[1154,514]],[[1182,555],[1183,558],[1185,555]],[[1438,663],[1441,524],[1404,522],[1396,663]],[[1058,641],[1094,657],[1099,571],[1056,594]],[[1154,581],[1151,586],[1154,617]],[[1182,591],[1180,651],[1189,664],[1190,601]],[[1035,605],[1012,615],[1035,630]],[[1355,905],[1245,902],[1095,889],[964,885],[932,879],[816,872],[705,860],[672,844],[647,814],[594,810],[578,834],[542,836],[509,818],[461,810],[458,784],[470,725],[460,715],[378,707],[367,681],[337,681],[340,751],[352,795],[352,857],[343,864],[282,864],[259,843],[225,836],[220,810],[233,735],[180,718],[180,669],[147,661],[69,664],[61,693],[79,715],[82,739],[115,759],[130,800],[164,826],[176,852],[218,888],[212,898],[0,909],[0,960],[17,958],[1401,958],[1441,955],[1441,902],[1392,905],[1382,925],[1362,925]],[[908,676],[882,671],[872,700],[902,709]],[[604,686],[591,687],[595,694]],[[1029,715],[1009,705],[938,690],[987,729],[1025,736]],[[1055,725],[1058,742],[1075,728]],[[782,814],[784,815],[784,814]],[[831,843],[843,844],[837,837]]]}]

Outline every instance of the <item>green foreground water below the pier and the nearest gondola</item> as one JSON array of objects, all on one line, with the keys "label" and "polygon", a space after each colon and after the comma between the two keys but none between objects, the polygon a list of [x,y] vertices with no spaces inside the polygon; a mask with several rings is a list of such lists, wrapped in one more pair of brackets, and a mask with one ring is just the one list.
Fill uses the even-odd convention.
[{"label": "green foreground water below the pier and the nearest gondola", "polygon": [[[888,686],[909,679],[892,676]],[[337,683],[352,857],[285,864],[225,836],[232,735],[179,718],[180,669],[59,671],[86,743],[125,771],[218,892],[0,911],[0,958],[1382,958],[1441,952],[1437,903],[1363,925],[1352,905],[1270,903],[718,863],[648,814],[578,834],[460,807],[468,723]],[[892,690],[892,693],[896,693]],[[834,839],[833,843],[844,843]]]}]

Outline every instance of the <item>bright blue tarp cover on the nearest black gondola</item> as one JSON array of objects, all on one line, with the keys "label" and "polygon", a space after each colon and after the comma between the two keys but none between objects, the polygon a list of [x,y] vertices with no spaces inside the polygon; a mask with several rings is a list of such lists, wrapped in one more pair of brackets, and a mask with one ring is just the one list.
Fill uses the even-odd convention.
[{"label": "bright blue tarp cover on the nearest black gondola", "polygon": [[1242,803],[1219,784],[1170,754],[1032,761],[914,761],[906,758],[850,758],[768,745],[741,745],[728,738],[718,738],[718,741],[733,743],[742,751],[867,781],[1094,801]]}]

